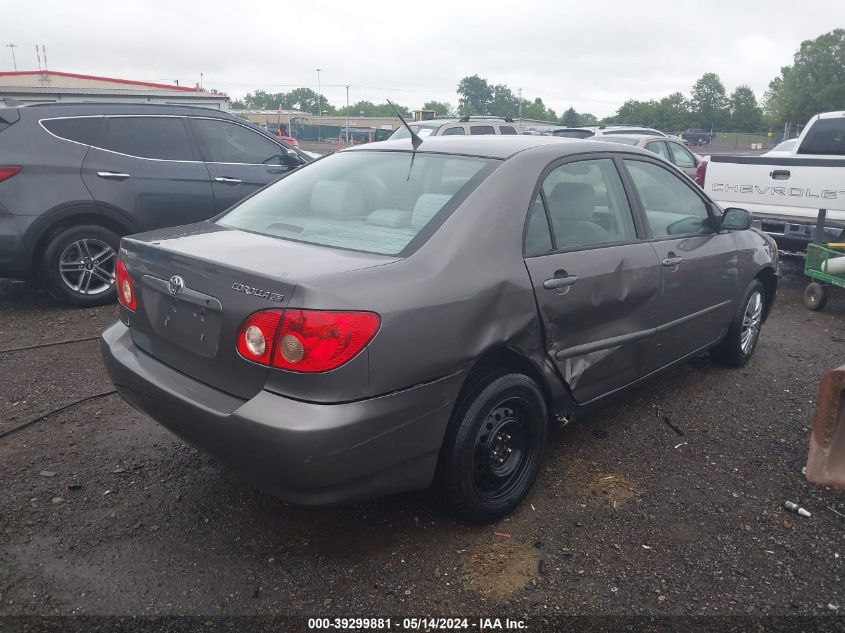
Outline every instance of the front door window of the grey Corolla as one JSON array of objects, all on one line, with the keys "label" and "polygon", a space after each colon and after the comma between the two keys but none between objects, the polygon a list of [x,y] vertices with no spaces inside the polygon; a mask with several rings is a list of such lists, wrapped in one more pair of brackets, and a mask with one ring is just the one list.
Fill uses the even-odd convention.
[{"label": "front door window of the grey Corolla", "polygon": [[712,233],[704,201],[676,172],[639,160],[625,165],[640,196],[655,238]]}]

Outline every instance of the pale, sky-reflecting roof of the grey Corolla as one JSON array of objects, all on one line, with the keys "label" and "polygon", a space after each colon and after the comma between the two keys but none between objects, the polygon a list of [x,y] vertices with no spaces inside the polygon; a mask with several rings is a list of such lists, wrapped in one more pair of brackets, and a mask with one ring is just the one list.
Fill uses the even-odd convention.
[{"label": "pale, sky-reflecting roof of the grey Corolla", "polygon": [[[623,148],[638,150],[631,146],[618,143],[594,141],[592,139],[563,138],[560,136],[533,136],[526,134],[479,134],[477,136],[427,136],[417,149],[417,153],[458,154],[464,156],[481,156],[484,158],[506,159],[526,150],[558,144],[566,151],[563,154],[580,154],[596,151],[619,152]],[[604,147],[599,148],[599,145]],[[403,138],[395,141],[381,141],[356,145],[342,152],[360,151],[411,151],[411,139]],[[638,150],[650,154],[645,150]]]}]

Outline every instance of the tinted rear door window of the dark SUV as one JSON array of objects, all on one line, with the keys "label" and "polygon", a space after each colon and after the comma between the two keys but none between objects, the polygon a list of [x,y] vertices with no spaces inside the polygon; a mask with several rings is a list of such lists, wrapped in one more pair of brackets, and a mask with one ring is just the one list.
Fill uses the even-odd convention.
[{"label": "tinted rear door window of the dark SUV", "polygon": [[181,117],[106,117],[97,147],[139,158],[193,160]]}]

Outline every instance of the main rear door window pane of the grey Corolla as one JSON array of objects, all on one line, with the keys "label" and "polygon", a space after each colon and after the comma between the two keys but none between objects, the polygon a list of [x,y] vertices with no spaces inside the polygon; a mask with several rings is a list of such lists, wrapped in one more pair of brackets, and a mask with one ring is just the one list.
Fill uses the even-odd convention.
[{"label": "main rear door window pane of the grey Corolla", "polygon": [[543,181],[558,249],[636,239],[631,207],[609,158],[566,163]]}]

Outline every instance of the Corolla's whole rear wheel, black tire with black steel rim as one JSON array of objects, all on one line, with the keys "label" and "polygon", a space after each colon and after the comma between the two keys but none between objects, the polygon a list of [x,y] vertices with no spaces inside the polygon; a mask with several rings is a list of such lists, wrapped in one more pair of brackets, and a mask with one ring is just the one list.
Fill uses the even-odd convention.
[{"label": "Corolla's whole rear wheel, black tire with black steel rim", "polygon": [[548,418],[528,376],[499,372],[478,381],[455,407],[440,453],[447,508],[473,523],[513,512],[540,470]]}]

